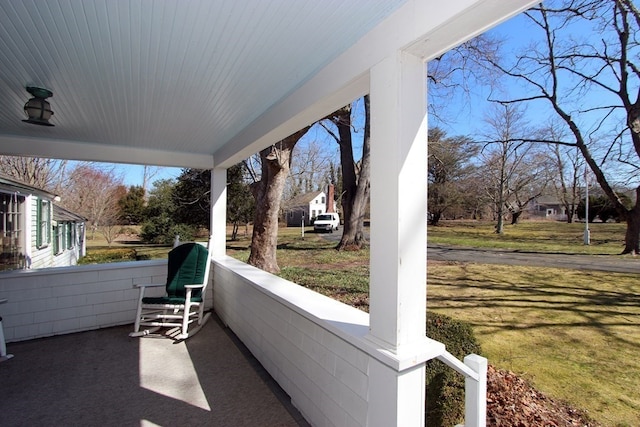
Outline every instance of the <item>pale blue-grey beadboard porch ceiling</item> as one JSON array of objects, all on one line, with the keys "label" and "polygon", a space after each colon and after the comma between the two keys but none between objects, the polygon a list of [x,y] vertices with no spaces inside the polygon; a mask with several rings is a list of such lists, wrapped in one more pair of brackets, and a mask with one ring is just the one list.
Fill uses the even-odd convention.
[{"label": "pale blue-grey beadboard porch ceiling", "polygon": [[[481,28],[532,2],[0,0],[0,154],[211,167],[407,3],[437,30],[460,10]],[[450,28],[445,44],[461,38]],[[27,85],[53,92],[55,127],[21,121]]]}]

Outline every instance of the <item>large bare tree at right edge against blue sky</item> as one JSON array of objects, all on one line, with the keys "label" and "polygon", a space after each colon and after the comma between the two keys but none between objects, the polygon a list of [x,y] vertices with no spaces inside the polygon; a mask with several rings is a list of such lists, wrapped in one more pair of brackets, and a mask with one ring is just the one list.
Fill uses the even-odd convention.
[{"label": "large bare tree at right edge against blue sky", "polygon": [[[503,102],[542,103],[562,120],[571,140],[540,141],[578,148],[626,220],[622,253],[638,254],[640,11],[632,0],[558,0],[541,4],[526,16],[540,42],[528,46],[511,64],[487,59],[527,88]],[[614,189],[616,180],[634,182],[636,200],[631,208]]]}]

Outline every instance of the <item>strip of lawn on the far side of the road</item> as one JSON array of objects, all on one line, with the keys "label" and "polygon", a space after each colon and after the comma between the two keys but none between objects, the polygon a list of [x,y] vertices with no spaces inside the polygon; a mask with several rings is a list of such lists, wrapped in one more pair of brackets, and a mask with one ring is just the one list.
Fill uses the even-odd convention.
[{"label": "strip of lawn on the far side of the road", "polygon": [[495,223],[443,221],[429,227],[429,243],[478,248],[512,249],[547,253],[614,255],[624,248],[626,224],[589,224],[591,244],[584,244],[584,223],[530,221],[506,225],[495,233]]}]

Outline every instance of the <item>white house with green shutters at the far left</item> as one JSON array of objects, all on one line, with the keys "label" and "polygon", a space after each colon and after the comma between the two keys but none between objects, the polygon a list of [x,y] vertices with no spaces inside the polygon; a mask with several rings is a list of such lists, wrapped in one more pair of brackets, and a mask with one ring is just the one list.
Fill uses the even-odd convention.
[{"label": "white house with green shutters at the far left", "polygon": [[86,253],[85,218],[57,197],[0,177],[0,271],[75,265]]}]

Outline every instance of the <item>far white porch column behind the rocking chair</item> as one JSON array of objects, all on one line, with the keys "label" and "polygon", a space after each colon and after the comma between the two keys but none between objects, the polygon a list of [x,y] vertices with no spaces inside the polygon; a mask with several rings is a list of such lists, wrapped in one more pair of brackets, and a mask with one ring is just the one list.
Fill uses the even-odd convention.
[{"label": "far white porch column behind the rocking chair", "polygon": [[227,250],[227,170],[211,169],[211,254],[221,256]]}]

